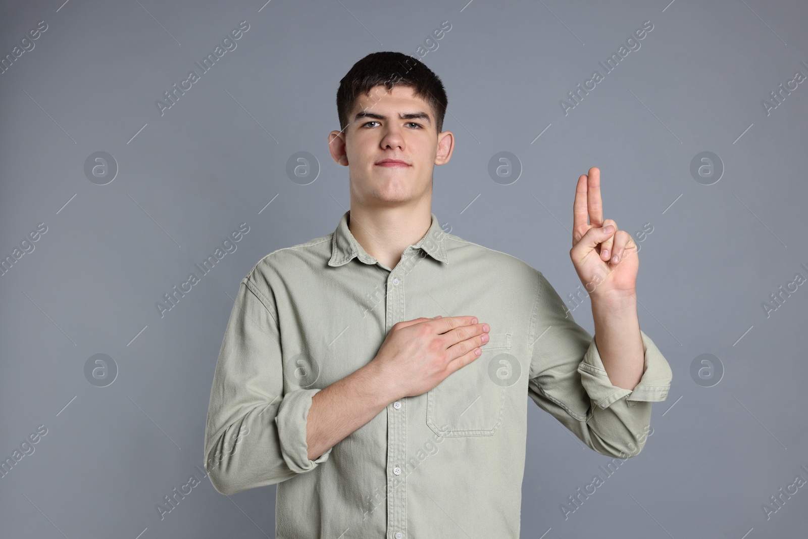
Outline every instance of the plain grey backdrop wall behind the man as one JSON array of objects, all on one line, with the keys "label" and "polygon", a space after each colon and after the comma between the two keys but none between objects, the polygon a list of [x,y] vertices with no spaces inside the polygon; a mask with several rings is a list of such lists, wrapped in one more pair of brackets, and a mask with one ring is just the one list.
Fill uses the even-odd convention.
[{"label": "plain grey backdrop wall behind the man", "polygon": [[[445,229],[523,259],[566,298],[580,285],[579,175],[600,167],[604,217],[621,229],[653,226],[638,310],[671,393],[612,476],[530,406],[522,537],[804,533],[808,487],[768,520],[761,505],[808,480],[808,292],[769,317],[762,302],[808,276],[808,82],[769,115],[761,100],[808,75],[805,2],[3,2],[0,57],[40,20],[35,48],[0,74],[0,255],[48,227],[0,277],[0,456],[48,432],[0,479],[2,537],[274,537],[275,486],[225,497],[202,478],[165,519],[155,506],[200,478],[239,280],[349,208],[326,145],[339,79],[374,51],[420,56],[444,20],[423,61],[457,137],[435,171]],[[161,116],[155,101],[242,20],[237,48]],[[641,48],[565,116],[559,100],[646,20]],[[106,185],[83,170],[97,151],[119,167]],[[298,151],[321,167],[308,185],[286,174]],[[488,175],[499,151],[519,159],[515,183]],[[690,174],[702,151],[722,160],[717,183]],[[242,222],[238,249],[161,318],[162,294]],[[594,331],[589,301],[573,314]],[[106,387],[84,372],[99,353],[118,368]],[[691,376],[701,354],[722,365],[718,384]],[[565,520],[559,505],[595,474],[604,484]]]}]

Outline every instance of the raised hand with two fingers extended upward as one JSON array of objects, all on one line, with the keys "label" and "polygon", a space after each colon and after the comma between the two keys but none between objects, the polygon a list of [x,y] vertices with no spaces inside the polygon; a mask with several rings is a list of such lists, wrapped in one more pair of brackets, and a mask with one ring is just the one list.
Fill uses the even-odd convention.
[{"label": "raised hand with two fingers extended upward", "polygon": [[640,267],[637,244],[631,234],[617,229],[614,220],[604,220],[598,167],[579,177],[572,215],[570,259],[587,292],[600,297],[633,296]]}]

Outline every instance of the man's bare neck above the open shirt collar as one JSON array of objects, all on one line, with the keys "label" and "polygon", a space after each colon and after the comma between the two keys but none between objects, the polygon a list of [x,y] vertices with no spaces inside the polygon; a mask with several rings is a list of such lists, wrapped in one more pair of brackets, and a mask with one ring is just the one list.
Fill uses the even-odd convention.
[{"label": "man's bare neck above the open shirt collar", "polygon": [[348,229],[374,259],[393,269],[407,246],[423,238],[432,223],[431,205],[363,208],[351,205]]}]

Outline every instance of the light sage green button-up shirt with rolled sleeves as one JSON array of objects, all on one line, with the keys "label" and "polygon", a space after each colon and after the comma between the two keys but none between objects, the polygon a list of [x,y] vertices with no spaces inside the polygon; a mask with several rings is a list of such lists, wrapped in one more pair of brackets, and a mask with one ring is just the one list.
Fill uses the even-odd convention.
[{"label": "light sage green button-up shirt with rolled sleeves", "polygon": [[[640,452],[651,402],[671,382],[644,332],[642,379],[617,387],[527,263],[446,233],[432,213],[390,268],[356,241],[349,216],[266,255],[239,285],[205,427],[217,491],[276,484],[279,539],[516,539],[530,400],[597,453]],[[438,314],[487,322],[482,355],[309,459],[314,394],[368,364],[396,322]]]}]

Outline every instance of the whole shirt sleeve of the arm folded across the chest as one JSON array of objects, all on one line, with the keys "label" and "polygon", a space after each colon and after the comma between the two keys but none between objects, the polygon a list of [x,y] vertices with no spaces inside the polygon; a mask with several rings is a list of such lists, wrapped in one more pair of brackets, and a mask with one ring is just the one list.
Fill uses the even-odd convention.
[{"label": "whole shirt sleeve of the arm folded across the chest", "polygon": [[204,467],[225,495],[314,469],[306,419],[318,389],[284,394],[280,328],[271,294],[245,277],[222,339],[205,422]]}]

